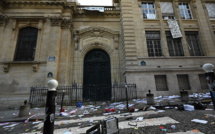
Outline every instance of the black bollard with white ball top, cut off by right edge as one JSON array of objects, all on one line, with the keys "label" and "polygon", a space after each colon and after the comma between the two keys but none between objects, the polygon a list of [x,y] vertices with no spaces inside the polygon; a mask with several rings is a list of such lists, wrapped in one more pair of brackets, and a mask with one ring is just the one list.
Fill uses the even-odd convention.
[{"label": "black bollard with white ball top, cut off by right edge", "polygon": [[211,99],[212,99],[213,106],[215,109],[215,92],[214,92],[214,90],[215,90],[215,76],[214,76],[214,72],[213,72],[214,65],[212,65],[211,63],[206,63],[203,65],[202,69],[205,71],[205,77],[206,77],[206,80],[208,82],[208,87],[210,90]]}]

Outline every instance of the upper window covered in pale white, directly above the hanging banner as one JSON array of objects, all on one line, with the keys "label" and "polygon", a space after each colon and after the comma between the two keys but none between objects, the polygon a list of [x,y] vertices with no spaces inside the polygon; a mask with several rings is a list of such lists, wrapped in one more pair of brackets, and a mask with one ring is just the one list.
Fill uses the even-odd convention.
[{"label": "upper window covered in pale white, directly above the hanging banner", "polygon": [[175,19],[172,2],[160,2],[163,19]]}]

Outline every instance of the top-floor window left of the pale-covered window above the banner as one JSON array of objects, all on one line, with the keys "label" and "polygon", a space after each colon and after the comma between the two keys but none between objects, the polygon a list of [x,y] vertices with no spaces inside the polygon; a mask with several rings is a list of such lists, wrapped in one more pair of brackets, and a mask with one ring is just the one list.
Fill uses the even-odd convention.
[{"label": "top-floor window left of the pale-covered window above the banner", "polygon": [[154,3],[142,2],[143,18],[156,19]]}]

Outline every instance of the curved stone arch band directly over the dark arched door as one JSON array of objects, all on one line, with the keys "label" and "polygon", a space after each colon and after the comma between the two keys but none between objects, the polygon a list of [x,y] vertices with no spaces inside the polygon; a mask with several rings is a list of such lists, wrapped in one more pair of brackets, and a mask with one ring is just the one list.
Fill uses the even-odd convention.
[{"label": "curved stone arch band directly over the dark arched door", "polygon": [[84,58],[84,56],[91,50],[93,49],[102,49],[104,51],[106,51],[109,56],[111,57],[112,53],[113,53],[113,50],[107,45],[107,44],[104,44],[104,43],[101,43],[101,42],[94,42],[94,43],[90,43],[90,44],[87,44],[81,51],[81,56]]}]

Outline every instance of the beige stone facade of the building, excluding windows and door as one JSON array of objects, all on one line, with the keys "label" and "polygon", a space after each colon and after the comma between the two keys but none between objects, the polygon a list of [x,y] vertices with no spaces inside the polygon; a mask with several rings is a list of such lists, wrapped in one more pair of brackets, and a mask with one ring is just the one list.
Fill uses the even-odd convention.
[{"label": "beige stone facade of the building, excluding windows and door", "polygon": [[[143,2],[154,4],[155,19],[143,18]],[[184,56],[169,54],[165,32],[170,29],[162,18],[160,2],[172,2]],[[190,5],[192,19],[181,19],[181,2]],[[72,0],[2,0],[0,104],[22,103],[29,98],[31,86],[46,85],[49,72],[60,85],[73,81],[83,84],[84,57],[94,49],[102,49],[110,56],[111,81],[136,83],[138,97],[144,97],[149,89],[155,96],[179,94],[180,74],[188,76],[190,93],[206,92],[201,88],[199,74],[204,74],[203,64],[215,65],[215,20],[209,18],[206,8],[206,3],[213,2],[113,0],[113,7],[99,12],[84,10]],[[19,30],[24,27],[38,29],[35,57],[33,61],[14,61]],[[162,56],[148,56],[147,31],[160,33]],[[186,32],[190,31],[198,32],[204,55],[191,56],[186,40]],[[165,76],[168,90],[157,90],[156,75]]]}]

